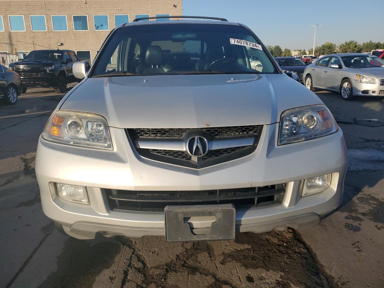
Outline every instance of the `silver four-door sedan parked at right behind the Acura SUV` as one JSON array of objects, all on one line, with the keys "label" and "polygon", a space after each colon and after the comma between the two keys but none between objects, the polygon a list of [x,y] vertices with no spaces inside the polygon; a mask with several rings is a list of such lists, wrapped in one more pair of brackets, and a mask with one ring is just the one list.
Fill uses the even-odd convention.
[{"label": "silver four-door sedan parked at right behind the Acura SUV", "polygon": [[384,60],[364,53],[332,54],[308,65],[305,86],[341,93],[343,99],[356,95],[384,95]]}]

